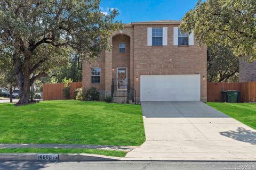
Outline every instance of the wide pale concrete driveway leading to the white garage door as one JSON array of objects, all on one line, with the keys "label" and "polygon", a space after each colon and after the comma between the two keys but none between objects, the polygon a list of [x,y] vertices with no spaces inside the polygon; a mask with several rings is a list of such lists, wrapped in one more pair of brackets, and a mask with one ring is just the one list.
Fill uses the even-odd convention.
[{"label": "wide pale concrete driveway leading to the white garage door", "polygon": [[256,160],[256,131],[202,102],[141,106],[146,142],[127,159]]}]

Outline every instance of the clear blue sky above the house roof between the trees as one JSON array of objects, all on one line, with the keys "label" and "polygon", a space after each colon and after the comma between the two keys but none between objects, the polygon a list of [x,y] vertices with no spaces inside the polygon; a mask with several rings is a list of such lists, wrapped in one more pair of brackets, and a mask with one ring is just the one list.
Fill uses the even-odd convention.
[{"label": "clear blue sky above the house roof between the trees", "polygon": [[101,0],[101,11],[107,14],[108,10],[116,8],[119,12],[118,21],[123,23],[181,20],[182,16],[194,8],[198,0]]}]

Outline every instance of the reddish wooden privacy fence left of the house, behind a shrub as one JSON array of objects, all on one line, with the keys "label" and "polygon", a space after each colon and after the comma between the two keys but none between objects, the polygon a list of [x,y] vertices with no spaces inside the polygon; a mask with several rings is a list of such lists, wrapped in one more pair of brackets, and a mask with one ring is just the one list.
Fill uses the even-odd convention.
[{"label": "reddish wooden privacy fence left of the house, behind a shrub", "polygon": [[[63,95],[64,83],[43,84],[43,100],[61,100],[65,99]],[[76,89],[82,87],[82,82],[70,83],[70,99],[74,99]]]}]

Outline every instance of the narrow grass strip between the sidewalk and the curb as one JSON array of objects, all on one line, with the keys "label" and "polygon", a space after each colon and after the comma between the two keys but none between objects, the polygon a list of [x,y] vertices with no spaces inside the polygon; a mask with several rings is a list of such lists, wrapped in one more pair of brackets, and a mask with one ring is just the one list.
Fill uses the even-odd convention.
[{"label": "narrow grass strip between the sidewalk and the curb", "polygon": [[0,153],[41,153],[41,154],[98,154],[106,156],[124,157],[126,152],[100,149],[60,149],[60,148],[10,148],[0,149]]}]

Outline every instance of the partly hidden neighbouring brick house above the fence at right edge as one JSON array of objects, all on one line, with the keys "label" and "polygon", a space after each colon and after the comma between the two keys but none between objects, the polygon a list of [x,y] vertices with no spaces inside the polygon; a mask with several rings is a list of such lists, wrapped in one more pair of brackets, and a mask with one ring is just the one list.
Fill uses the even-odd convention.
[{"label": "partly hidden neighbouring brick house above the fence at right edge", "polygon": [[256,81],[256,61],[239,61],[239,82]]}]

